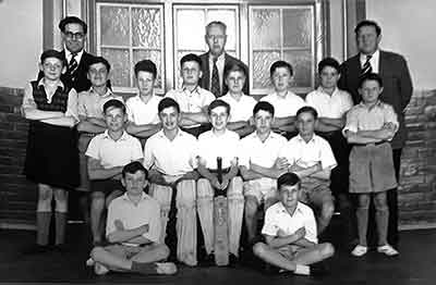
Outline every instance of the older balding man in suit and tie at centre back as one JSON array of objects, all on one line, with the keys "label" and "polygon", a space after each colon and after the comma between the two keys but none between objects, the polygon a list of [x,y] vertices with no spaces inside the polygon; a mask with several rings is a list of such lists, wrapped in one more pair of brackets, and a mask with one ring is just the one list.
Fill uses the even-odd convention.
[{"label": "older balding man in suit and tie at centre back", "polygon": [[[249,67],[242,61],[225,51],[227,41],[226,30],[227,26],[222,22],[214,21],[207,24],[205,40],[209,47],[209,51],[199,55],[203,71],[199,86],[213,92],[217,98],[225,96],[229,90],[223,78],[226,65],[239,62],[244,66],[245,74],[249,74]],[[249,95],[249,82],[247,76],[242,89],[245,95]]]}]

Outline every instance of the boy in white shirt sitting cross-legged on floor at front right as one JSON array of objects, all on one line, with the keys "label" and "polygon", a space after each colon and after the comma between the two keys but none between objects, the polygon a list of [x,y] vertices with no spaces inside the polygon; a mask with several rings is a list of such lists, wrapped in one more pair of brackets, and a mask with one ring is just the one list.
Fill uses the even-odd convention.
[{"label": "boy in white shirt sitting cross-legged on floor at front right", "polygon": [[253,247],[254,255],[282,271],[310,275],[310,264],[335,253],[329,243],[318,244],[316,220],[312,209],[299,202],[300,178],[286,173],[277,179],[280,201],[268,208],[262,234],[266,243]]}]

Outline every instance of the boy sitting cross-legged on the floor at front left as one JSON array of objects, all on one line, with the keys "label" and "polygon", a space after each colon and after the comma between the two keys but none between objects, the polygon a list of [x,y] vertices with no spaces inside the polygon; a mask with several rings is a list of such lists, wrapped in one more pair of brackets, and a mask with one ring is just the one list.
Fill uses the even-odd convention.
[{"label": "boy sitting cross-legged on the floor at front left", "polygon": [[134,161],[122,170],[121,183],[125,194],[116,198],[108,209],[107,238],[112,245],[95,247],[87,265],[98,275],[109,271],[141,274],[174,274],[171,262],[159,262],[169,256],[165,244],[159,244],[160,207],[144,193],[147,170]]}]

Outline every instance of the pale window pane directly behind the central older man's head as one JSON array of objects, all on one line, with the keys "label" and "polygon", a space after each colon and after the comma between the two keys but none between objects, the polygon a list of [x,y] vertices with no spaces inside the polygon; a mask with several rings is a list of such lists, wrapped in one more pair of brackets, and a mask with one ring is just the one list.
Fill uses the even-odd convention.
[{"label": "pale window pane directly behind the central older man's head", "polygon": [[[226,50],[235,50],[237,49],[237,15],[235,10],[208,10],[207,11],[207,21],[204,24],[204,27],[210,23],[211,21],[221,21],[227,26],[227,42]],[[205,34],[205,29],[203,27],[203,34]]]}]

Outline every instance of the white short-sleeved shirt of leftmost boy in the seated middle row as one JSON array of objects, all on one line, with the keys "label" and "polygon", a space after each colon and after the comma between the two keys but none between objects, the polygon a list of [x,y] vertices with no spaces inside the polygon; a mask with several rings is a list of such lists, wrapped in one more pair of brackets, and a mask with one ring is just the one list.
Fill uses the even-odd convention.
[{"label": "white short-sleeved shirt of leftmost boy in the seated middle row", "polygon": [[137,138],[123,132],[118,140],[113,140],[108,131],[93,137],[85,154],[100,161],[104,169],[124,166],[144,157]]}]

